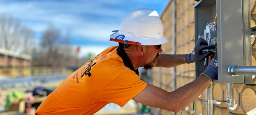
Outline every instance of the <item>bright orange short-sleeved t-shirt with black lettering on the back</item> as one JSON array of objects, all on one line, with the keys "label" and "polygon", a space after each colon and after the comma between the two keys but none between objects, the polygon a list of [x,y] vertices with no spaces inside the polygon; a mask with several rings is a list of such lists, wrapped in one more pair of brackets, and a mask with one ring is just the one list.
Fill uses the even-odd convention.
[{"label": "bright orange short-sleeved t-shirt with black lettering on the back", "polygon": [[[124,106],[147,83],[136,74],[124,50],[109,47],[69,75],[35,114],[92,115],[108,103]],[[128,59],[128,60],[127,60]]]}]

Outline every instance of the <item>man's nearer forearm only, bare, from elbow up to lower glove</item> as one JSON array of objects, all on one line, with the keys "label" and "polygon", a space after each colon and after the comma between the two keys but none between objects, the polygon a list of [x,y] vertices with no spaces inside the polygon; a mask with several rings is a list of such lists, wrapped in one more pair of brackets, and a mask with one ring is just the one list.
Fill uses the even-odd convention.
[{"label": "man's nearer forearm only, bare, from elbow up to lower glove", "polygon": [[180,111],[188,104],[192,103],[209,86],[210,79],[205,75],[200,75],[196,80],[170,92],[171,100],[176,105],[176,110]]}]

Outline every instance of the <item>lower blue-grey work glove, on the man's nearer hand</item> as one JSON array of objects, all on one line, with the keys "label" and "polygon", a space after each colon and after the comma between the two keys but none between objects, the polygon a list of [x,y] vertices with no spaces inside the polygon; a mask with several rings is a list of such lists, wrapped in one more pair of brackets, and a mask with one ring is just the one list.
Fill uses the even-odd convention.
[{"label": "lower blue-grey work glove, on the man's nearer hand", "polygon": [[212,80],[218,78],[218,57],[217,56],[212,58],[206,70],[201,74],[204,74],[208,78],[210,78],[211,82]]}]

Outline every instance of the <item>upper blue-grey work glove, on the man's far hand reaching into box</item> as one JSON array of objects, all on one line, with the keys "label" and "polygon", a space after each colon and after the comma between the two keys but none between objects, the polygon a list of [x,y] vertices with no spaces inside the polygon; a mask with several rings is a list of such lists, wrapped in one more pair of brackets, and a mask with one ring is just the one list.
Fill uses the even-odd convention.
[{"label": "upper blue-grey work glove, on the man's far hand reaching into box", "polygon": [[200,62],[202,60],[204,60],[204,58],[214,54],[212,51],[208,51],[206,53],[203,54],[203,50],[212,50],[212,49],[215,49],[215,46],[208,46],[208,43],[200,38],[197,43],[196,43],[196,46],[194,48],[194,50],[192,51],[192,53],[190,54],[187,54],[185,56],[185,62],[186,63],[193,63],[193,62]]}]

